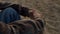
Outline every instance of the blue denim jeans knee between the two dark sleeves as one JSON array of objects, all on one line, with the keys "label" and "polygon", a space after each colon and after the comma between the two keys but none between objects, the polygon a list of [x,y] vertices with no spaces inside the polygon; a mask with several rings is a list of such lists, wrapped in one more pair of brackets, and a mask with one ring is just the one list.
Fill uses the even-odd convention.
[{"label": "blue denim jeans knee between the two dark sleeves", "polygon": [[6,24],[20,19],[19,14],[11,7],[4,9],[0,14],[0,21]]}]

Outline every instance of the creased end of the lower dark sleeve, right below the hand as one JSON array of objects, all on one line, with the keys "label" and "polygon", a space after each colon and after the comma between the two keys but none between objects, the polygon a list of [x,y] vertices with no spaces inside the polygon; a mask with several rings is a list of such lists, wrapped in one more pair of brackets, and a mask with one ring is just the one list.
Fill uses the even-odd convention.
[{"label": "creased end of the lower dark sleeve, right below the hand", "polygon": [[41,20],[40,18],[36,18],[35,22],[38,25],[38,28],[39,28],[38,32],[39,32],[39,34],[43,34],[44,26],[45,26],[44,21]]}]

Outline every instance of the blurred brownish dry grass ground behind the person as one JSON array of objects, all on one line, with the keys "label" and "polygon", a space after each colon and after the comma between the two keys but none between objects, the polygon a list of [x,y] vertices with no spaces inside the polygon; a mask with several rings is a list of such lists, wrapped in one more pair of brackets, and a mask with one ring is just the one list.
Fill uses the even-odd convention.
[{"label": "blurred brownish dry grass ground behind the person", "polygon": [[60,0],[0,0],[0,2],[16,3],[39,10],[46,23],[45,33],[60,34]]}]

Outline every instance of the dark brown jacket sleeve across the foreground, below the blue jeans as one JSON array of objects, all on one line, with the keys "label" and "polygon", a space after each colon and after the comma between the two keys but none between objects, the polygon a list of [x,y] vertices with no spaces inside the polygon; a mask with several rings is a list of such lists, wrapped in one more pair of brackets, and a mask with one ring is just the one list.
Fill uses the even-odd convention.
[{"label": "dark brown jacket sleeve across the foreground, below the blue jeans", "polygon": [[0,23],[0,32],[3,34],[43,34],[44,24],[37,20],[18,20],[10,24]]}]

